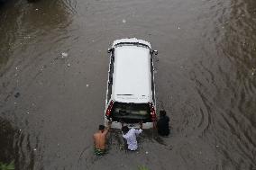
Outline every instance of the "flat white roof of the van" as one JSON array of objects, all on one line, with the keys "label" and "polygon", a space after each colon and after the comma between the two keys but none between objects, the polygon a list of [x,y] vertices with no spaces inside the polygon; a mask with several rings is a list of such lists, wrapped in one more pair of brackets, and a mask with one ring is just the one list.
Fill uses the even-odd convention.
[{"label": "flat white roof of the van", "polygon": [[113,94],[118,102],[151,102],[150,49],[136,45],[114,48]]}]

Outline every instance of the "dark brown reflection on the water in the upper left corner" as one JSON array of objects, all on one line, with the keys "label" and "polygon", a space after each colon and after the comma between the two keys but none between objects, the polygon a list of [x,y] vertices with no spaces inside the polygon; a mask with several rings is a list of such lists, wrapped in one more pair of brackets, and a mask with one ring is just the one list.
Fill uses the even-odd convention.
[{"label": "dark brown reflection on the water in the upper left corner", "polygon": [[[16,0],[0,10],[0,71],[14,51],[26,50],[41,41],[50,32],[60,31],[69,24],[69,9],[64,1],[36,1],[28,3]],[[62,30],[63,31],[63,30]],[[22,56],[18,55],[18,59]],[[19,59],[20,60],[20,59]]]}]

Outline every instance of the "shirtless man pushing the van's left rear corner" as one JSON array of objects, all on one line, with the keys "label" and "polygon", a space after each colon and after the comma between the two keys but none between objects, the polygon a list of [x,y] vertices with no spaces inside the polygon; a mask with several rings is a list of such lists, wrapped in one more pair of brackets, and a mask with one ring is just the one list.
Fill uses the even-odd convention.
[{"label": "shirtless man pushing the van's left rear corner", "polygon": [[94,134],[95,154],[96,156],[103,156],[105,154],[105,139],[110,130],[112,121],[108,121],[108,126],[105,129],[104,125],[98,126],[98,132]]}]

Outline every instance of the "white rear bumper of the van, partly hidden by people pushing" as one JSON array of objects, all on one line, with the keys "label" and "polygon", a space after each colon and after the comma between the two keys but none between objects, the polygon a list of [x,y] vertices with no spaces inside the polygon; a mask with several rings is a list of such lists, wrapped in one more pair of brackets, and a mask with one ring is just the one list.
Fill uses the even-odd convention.
[{"label": "white rear bumper of the van, partly hidden by people pushing", "polygon": [[[107,126],[107,123],[108,123],[108,120],[105,119],[105,126]],[[124,122],[123,125],[128,126],[129,129],[131,129],[131,128],[139,129],[140,128],[139,123],[125,123]],[[121,122],[113,121],[111,124],[111,128],[121,130],[122,124],[121,124]],[[151,128],[153,128],[153,122],[142,123],[142,129],[147,130],[147,129],[151,129]]]}]

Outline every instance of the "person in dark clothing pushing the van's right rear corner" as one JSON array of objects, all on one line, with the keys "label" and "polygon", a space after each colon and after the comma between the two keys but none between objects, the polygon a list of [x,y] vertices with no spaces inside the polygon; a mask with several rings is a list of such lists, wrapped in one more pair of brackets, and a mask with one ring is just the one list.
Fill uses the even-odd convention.
[{"label": "person in dark clothing pushing the van's right rear corner", "polygon": [[165,111],[160,111],[160,119],[157,122],[157,129],[160,136],[169,135],[169,117],[166,115]]}]

